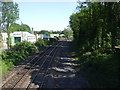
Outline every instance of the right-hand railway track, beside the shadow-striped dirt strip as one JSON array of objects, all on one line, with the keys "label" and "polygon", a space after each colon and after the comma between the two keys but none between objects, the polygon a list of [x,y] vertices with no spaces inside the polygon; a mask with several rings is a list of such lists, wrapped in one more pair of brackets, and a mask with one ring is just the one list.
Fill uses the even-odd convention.
[{"label": "right-hand railway track, beside the shadow-striped dirt strip", "polygon": [[43,62],[43,64],[40,66],[41,69],[39,69],[37,71],[37,73],[33,77],[32,81],[26,87],[27,90],[29,90],[30,88],[32,88],[32,83],[38,84],[39,85],[39,89],[44,86],[46,75],[48,73],[50,65],[52,64],[52,62],[53,62],[53,60],[55,58],[55,55],[56,55],[56,53],[58,51],[58,47],[54,50],[54,52],[51,53],[51,55],[49,55],[50,57],[47,57],[45,59],[45,61]]}]

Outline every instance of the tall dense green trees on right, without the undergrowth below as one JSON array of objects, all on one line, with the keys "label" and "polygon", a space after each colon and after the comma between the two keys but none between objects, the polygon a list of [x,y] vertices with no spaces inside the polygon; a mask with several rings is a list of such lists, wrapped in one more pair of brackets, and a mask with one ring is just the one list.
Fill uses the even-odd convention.
[{"label": "tall dense green trees on right, without the undergrowth below", "polygon": [[115,52],[115,46],[120,44],[120,2],[79,2],[77,9],[70,16],[70,27],[80,48]]}]

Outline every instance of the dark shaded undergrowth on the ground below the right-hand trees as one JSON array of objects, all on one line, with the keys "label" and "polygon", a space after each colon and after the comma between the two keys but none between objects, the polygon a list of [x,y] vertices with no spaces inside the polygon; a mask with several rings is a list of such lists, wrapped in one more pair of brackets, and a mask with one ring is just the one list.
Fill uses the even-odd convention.
[{"label": "dark shaded undergrowth on the ground below the right-hand trees", "polygon": [[75,43],[72,48],[78,58],[79,73],[88,80],[90,88],[119,88],[120,53],[103,52],[103,48],[88,52]]}]

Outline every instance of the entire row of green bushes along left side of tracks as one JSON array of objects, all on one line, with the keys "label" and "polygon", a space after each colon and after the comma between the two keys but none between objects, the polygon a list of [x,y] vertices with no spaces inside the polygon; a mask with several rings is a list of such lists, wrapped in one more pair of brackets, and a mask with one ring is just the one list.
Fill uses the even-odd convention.
[{"label": "entire row of green bushes along left side of tracks", "polygon": [[6,72],[18,62],[24,60],[28,55],[40,51],[42,48],[47,47],[50,41],[47,39],[38,39],[35,44],[28,41],[18,42],[10,50],[5,50],[1,53],[2,57],[2,71]]}]

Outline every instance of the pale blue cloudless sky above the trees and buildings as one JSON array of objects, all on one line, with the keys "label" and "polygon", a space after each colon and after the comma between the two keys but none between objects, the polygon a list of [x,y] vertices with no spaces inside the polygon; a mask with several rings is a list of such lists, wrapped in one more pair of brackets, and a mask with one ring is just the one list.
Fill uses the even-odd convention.
[{"label": "pale blue cloudless sky above the trees and buildings", "polygon": [[34,31],[63,30],[69,25],[69,17],[76,11],[76,2],[17,2],[19,20]]}]

